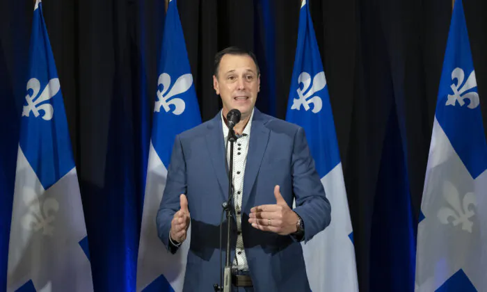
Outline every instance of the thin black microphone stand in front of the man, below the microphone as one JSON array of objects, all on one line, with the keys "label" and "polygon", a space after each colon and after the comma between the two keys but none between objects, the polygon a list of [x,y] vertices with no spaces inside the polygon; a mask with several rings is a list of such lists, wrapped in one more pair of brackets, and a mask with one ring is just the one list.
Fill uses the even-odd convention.
[{"label": "thin black microphone stand in front of the man, below the microphone", "polygon": [[[227,250],[226,250],[226,260],[225,260],[225,270],[223,272],[223,286],[218,286],[218,284],[214,284],[215,291],[223,291],[223,292],[230,292],[232,288],[232,266],[230,265],[230,220],[232,218],[232,198],[233,198],[233,188],[232,188],[232,181],[233,181],[233,145],[234,142],[237,140],[237,136],[235,136],[235,131],[233,127],[229,127],[228,129],[228,140],[230,141],[230,162],[228,163],[228,200],[227,202],[223,202],[222,207],[223,211],[227,214]],[[226,156],[226,153],[225,153]],[[221,227],[220,227],[221,228]],[[220,266],[221,268],[221,266]],[[220,270],[221,273],[221,270]],[[220,283],[222,285],[222,283]]]}]

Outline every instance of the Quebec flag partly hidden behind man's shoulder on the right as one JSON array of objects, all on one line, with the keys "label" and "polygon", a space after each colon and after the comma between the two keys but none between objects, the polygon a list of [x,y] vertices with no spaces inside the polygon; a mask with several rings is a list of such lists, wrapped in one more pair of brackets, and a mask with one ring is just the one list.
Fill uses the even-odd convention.
[{"label": "Quebec flag partly hidden behind man's shoulder on the right", "polygon": [[358,291],[353,232],[326,78],[310,10],[303,0],[286,120],[305,129],[332,206],[330,225],[302,243],[312,291]]}]

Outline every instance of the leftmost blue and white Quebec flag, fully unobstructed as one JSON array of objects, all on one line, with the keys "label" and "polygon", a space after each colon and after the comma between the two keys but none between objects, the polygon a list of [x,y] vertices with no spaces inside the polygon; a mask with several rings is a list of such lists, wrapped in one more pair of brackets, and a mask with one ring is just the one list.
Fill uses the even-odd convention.
[{"label": "leftmost blue and white Quebec flag, fully unobstructed", "polygon": [[35,3],[7,291],[93,291],[88,239],[54,56]]}]

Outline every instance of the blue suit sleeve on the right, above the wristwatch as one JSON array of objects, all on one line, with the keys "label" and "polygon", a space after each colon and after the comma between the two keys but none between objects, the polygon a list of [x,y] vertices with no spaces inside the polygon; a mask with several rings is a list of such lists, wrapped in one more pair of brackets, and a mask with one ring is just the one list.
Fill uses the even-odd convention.
[{"label": "blue suit sleeve on the right, above the wristwatch", "polygon": [[292,154],[293,192],[296,200],[295,211],[304,223],[304,241],[310,241],[321,232],[331,220],[331,206],[326,198],[314,160],[311,156],[303,128],[298,128],[294,136]]}]

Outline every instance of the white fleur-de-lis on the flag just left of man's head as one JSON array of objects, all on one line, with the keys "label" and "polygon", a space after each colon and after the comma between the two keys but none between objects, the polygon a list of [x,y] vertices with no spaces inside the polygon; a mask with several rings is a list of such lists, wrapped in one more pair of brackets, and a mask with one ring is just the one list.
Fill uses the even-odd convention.
[{"label": "white fleur-de-lis on the flag just left of man's head", "polygon": [[156,106],[154,106],[154,112],[161,111],[161,106],[164,108],[164,111],[168,113],[170,109],[170,105],[174,106],[173,113],[175,115],[181,115],[184,112],[184,108],[186,108],[186,104],[184,100],[180,98],[173,98],[171,97],[175,95],[179,95],[183,92],[186,92],[191,88],[193,85],[193,76],[191,74],[184,74],[180,76],[173,85],[173,88],[168,92],[170,86],[170,76],[167,73],[163,73],[159,75],[158,86],[162,86],[162,90],[157,90],[157,101]]}]

